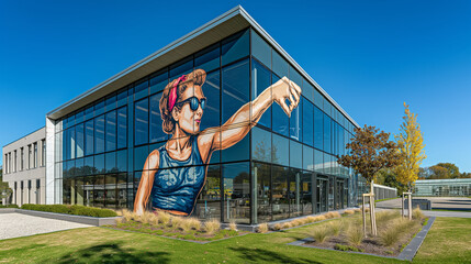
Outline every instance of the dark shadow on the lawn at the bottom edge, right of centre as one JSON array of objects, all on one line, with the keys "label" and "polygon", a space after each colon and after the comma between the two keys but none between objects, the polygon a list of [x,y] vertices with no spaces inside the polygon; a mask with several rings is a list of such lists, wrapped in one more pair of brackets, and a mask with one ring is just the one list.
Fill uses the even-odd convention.
[{"label": "dark shadow on the lawn at the bottom edge, right of centre", "polygon": [[261,249],[248,249],[248,248],[228,248],[229,250],[239,253],[242,260],[255,263],[290,263],[290,264],[306,264],[306,263],[321,263],[312,260],[295,258],[293,256],[283,255],[278,252],[261,250]]}]

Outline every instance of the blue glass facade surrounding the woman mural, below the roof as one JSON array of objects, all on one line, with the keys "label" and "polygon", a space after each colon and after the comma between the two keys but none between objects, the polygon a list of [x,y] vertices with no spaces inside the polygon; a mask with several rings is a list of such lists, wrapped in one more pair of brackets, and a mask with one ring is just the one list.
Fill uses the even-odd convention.
[{"label": "blue glass facade surrounding the woman mural, below the roof", "polygon": [[[198,136],[215,139],[242,128],[247,134],[231,146],[213,140],[215,151],[203,164],[178,160],[156,169],[149,156],[168,148],[172,136],[164,132],[165,88],[197,69],[205,73],[206,99]],[[262,92],[273,101],[271,85],[283,77],[302,89],[298,107],[289,117],[273,102],[254,121],[258,110],[250,102]],[[249,114],[234,119],[244,106]],[[56,201],[133,209],[139,183],[149,175],[168,176],[164,184],[170,185],[176,172],[194,180],[204,172],[190,212],[200,219],[259,223],[341,209],[357,202],[357,175],[336,163],[354,128],[314,84],[246,29],[57,120]],[[150,197],[147,208],[153,202]]]}]

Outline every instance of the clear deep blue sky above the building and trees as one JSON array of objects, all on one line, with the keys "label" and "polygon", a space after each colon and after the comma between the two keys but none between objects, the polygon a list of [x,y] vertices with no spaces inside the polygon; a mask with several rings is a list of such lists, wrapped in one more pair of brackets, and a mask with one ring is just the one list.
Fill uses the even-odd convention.
[{"label": "clear deep blue sky above the building and trees", "polygon": [[424,132],[423,165],[471,172],[464,0],[1,1],[0,145],[237,4],[359,124],[397,133],[406,101]]}]

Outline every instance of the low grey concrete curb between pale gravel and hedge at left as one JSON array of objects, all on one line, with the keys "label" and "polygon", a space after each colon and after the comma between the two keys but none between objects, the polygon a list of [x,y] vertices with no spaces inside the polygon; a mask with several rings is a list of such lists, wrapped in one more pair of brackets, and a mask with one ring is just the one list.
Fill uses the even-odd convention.
[{"label": "low grey concrete curb between pale gravel and hedge at left", "polygon": [[49,218],[49,219],[56,219],[56,220],[76,222],[76,223],[90,224],[94,227],[114,224],[117,218],[122,218],[122,217],[96,218],[96,217],[75,216],[75,215],[66,215],[66,213],[57,213],[57,212],[33,211],[33,210],[24,210],[24,209],[16,209],[16,208],[0,209],[0,213],[9,213],[9,212],[18,212],[18,213],[29,215],[33,217]]}]

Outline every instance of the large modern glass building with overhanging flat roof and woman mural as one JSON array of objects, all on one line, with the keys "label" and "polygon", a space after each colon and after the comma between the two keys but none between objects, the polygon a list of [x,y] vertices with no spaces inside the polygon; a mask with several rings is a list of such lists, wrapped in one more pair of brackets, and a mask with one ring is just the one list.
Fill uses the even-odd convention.
[{"label": "large modern glass building with overhanging flat roof and woman mural", "polygon": [[[192,117],[198,129],[166,133],[166,109],[178,114],[170,94],[180,91],[179,81],[195,87],[197,73],[204,74],[204,96],[195,88],[188,96],[197,110],[193,101],[176,106],[200,114]],[[277,100],[283,77],[302,92],[289,85],[289,96]],[[295,94],[299,102],[290,99]],[[269,98],[262,110],[260,98]],[[289,116],[281,101],[298,107]],[[359,179],[335,156],[356,127],[237,7],[47,113],[46,199],[133,209],[144,197],[148,210],[182,202],[191,216],[247,224],[341,209],[357,205]],[[176,157],[177,141],[190,142],[191,153]],[[142,196],[139,188],[147,188]],[[165,205],[156,201],[162,197]]]}]

